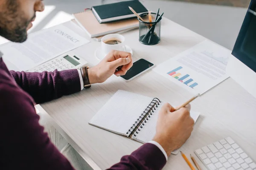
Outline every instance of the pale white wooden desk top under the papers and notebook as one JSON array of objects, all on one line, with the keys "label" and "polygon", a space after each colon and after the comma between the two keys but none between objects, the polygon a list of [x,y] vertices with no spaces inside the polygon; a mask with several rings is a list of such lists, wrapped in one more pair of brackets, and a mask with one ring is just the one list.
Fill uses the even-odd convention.
[{"label": "pale white wooden desk top under the papers and notebook", "polygon": [[[87,37],[83,31],[79,34]],[[138,34],[138,30],[123,34],[126,44],[134,50],[134,60],[144,58],[156,65],[205,40],[204,37],[167,19],[162,21],[160,44],[142,45],[138,41]],[[96,65],[99,61],[94,57],[94,51],[99,46],[100,42],[91,40],[89,44],[75,51]],[[66,137],[73,147],[102,169],[119,162],[122,156],[141,146],[138,142],[88,125],[93,115],[118,89],[158,97],[172,105],[180,105],[191,97],[191,94],[178,85],[154,71],[149,71],[131,82],[124,82],[120,77],[113,76],[103,84],[93,85],[90,89],[41,105],[68,136]],[[186,155],[231,136],[256,160],[256,99],[236,82],[232,79],[222,82],[192,102],[192,110],[202,114],[192,136],[182,147]],[[164,169],[186,170],[189,167],[180,155],[172,155]]]}]

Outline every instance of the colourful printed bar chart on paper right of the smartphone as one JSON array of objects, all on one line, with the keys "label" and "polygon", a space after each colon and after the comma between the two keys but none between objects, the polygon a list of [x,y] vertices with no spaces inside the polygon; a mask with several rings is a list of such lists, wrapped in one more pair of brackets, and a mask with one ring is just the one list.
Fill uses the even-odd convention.
[{"label": "colourful printed bar chart on paper right of the smartphone", "polygon": [[178,71],[181,71],[182,69],[183,67],[180,66],[178,68],[175,68],[172,71],[169,71],[167,74],[177,79],[178,81],[184,83],[185,85],[188,85],[190,88],[195,88],[198,85],[198,83],[194,82],[194,80],[190,78],[189,74],[181,74],[178,72]]}]

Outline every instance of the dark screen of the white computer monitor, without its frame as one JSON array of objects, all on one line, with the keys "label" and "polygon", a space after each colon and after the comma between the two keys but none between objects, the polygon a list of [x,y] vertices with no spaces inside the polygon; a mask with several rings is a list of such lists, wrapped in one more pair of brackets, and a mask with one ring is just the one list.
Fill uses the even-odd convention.
[{"label": "dark screen of the white computer monitor, without its frame", "polygon": [[256,72],[256,0],[250,2],[232,54]]}]

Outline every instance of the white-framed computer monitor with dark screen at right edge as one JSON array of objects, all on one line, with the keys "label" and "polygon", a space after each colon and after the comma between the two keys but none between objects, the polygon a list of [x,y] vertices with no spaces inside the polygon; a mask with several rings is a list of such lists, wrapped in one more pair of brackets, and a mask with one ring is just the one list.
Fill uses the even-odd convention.
[{"label": "white-framed computer monitor with dark screen at right edge", "polygon": [[227,65],[230,75],[256,97],[256,0],[251,0]]}]

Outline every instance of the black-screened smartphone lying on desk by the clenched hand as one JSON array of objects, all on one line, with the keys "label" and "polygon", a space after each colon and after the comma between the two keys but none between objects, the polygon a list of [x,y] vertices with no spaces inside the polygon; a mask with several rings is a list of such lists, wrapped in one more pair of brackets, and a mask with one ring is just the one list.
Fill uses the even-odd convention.
[{"label": "black-screened smartphone lying on desk by the clenched hand", "polygon": [[130,70],[128,70],[127,73],[121,77],[125,79],[126,82],[129,82],[153,67],[154,64],[152,64],[151,62],[148,62],[145,59],[139,59],[138,61],[134,62]]}]

